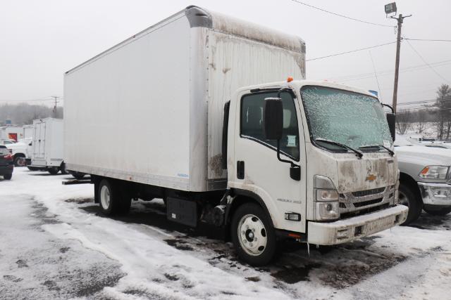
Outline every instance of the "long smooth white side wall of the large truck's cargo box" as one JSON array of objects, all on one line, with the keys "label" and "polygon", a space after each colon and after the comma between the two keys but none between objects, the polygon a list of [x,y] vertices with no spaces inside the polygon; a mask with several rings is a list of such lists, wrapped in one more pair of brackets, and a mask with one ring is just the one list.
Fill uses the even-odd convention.
[{"label": "long smooth white side wall of the large truck's cargo box", "polygon": [[189,84],[183,13],[67,72],[67,168],[188,190]]}]

